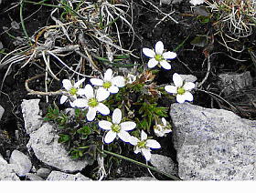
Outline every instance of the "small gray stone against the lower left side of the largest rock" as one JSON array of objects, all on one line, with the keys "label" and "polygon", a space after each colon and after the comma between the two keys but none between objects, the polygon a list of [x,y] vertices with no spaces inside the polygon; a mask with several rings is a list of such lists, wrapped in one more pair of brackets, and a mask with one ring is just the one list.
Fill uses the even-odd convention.
[{"label": "small gray stone against the lower left side of the largest rock", "polygon": [[177,176],[177,164],[174,163],[174,161],[170,157],[152,154],[150,158],[150,163],[160,171],[163,171],[172,176]]}]

